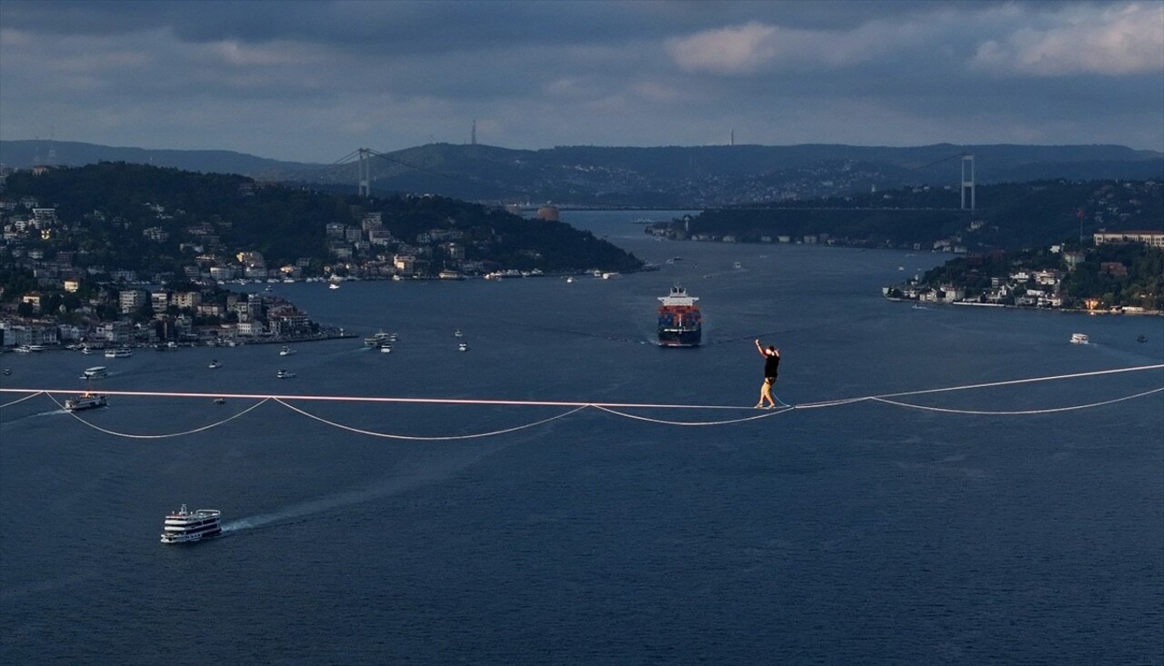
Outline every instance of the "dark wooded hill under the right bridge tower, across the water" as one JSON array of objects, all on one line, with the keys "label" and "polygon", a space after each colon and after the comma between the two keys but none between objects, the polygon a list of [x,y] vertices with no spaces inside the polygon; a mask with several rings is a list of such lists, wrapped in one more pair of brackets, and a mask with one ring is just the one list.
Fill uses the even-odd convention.
[{"label": "dark wooded hill under the right bridge tower, across the water", "polygon": [[[1161,229],[1158,180],[1050,180],[978,187],[975,208],[961,209],[957,188],[909,187],[818,201],[709,209],[667,224],[674,237],[737,241],[805,236],[868,248],[975,252],[1043,248],[1107,229]],[[968,200],[967,200],[968,202]],[[968,208],[968,206],[967,206]],[[654,229],[662,232],[661,228]]]}]

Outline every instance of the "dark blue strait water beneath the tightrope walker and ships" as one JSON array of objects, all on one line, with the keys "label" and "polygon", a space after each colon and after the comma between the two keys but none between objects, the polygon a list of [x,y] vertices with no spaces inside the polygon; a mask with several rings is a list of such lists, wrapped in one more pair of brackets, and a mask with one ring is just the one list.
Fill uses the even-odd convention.
[{"label": "dark blue strait water beneath the tightrope walker and ships", "polygon": [[[1086,374],[1164,363],[1164,321],[915,309],[881,286],[947,256],[656,242],[643,216],[563,213],[658,272],[274,287],[397,332],[388,355],[0,357],[5,388],[107,365],[108,391],[744,408],[115,395],[86,425],[0,394],[0,663],[1164,664],[1164,393],[1117,401],[1164,371]],[[675,282],[700,349],[652,344]],[[738,421],[765,414],[758,337],[815,408]],[[226,535],[159,544],[182,503]]]}]

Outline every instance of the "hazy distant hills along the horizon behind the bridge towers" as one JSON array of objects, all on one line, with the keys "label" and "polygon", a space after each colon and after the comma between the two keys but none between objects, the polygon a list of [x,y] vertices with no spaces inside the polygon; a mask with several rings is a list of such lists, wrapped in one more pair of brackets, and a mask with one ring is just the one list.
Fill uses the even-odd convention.
[{"label": "hazy distant hills along the horizon behind the bridge towers", "polygon": [[[904,186],[957,186],[963,153],[979,184],[1070,179],[1164,179],[1164,153],[1121,145],[954,145],[914,148],[804,144],[662,148],[559,146],[511,150],[428,144],[371,158],[377,194],[432,193],[470,201],[554,201],[560,206],[705,208],[803,201]],[[229,151],[146,150],[50,141],[0,142],[9,167],[120,160],[186,171],[239,173],[356,189],[357,167],[277,162]]]}]

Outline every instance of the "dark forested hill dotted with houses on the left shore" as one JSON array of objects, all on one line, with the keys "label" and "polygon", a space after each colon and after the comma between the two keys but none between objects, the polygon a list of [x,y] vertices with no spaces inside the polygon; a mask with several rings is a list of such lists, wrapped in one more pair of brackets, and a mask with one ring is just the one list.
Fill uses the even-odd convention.
[{"label": "dark forested hill dotted with houses on the left shore", "polygon": [[[236,262],[240,252],[258,252],[268,266],[296,265],[307,274],[325,265],[352,273],[391,266],[397,256],[410,257],[410,265],[414,259],[419,275],[641,266],[588,231],[477,203],[431,195],[365,200],[125,163],[20,171],[5,179],[0,199],[6,225],[26,221],[23,231],[6,235],[0,262],[65,252],[79,267],[150,274]],[[55,209],[35,234],[27,222],[34,208]]]}]

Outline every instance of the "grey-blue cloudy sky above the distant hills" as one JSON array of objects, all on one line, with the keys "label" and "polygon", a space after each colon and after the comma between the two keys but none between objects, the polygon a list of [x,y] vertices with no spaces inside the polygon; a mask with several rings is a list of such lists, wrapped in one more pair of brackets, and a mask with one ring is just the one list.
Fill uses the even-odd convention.
[{"label": "grey-blue cloudy sky above the distant hills", "polygon": [[1164,150],[1164,0],[0,2],[0,138]]}]

